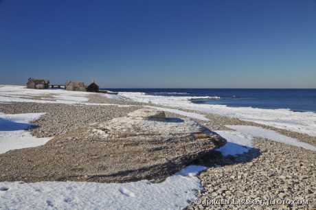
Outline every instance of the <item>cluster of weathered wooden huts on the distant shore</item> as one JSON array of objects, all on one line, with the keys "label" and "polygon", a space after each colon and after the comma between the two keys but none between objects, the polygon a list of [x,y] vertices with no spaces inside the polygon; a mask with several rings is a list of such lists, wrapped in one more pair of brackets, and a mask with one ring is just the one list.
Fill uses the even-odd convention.
[{"label": "cluster of weathered wooden huts on the distant shore", "polygon": [[[26,82],[27,89],[48,89],[49,86],[60,87],[64,85],[63,84],[50,84],[49,85],[49,80],[43,79],[43,78],[29,78],[29,80]],[[99,93],[99,86],[94,83],[94,80],[92,80],[92,83],[89,84],[88,86],[85,86],[84,82],[67,81],[65,82],[65,90]]]}]

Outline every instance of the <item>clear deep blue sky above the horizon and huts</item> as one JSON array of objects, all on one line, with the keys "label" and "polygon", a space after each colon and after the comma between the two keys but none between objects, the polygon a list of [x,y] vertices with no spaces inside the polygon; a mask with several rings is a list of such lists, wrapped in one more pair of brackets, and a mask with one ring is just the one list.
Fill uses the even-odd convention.
[{"label": "clear deep blue sky above the horizon and huts", "polygon": [[316,88],[315,0],[0,0],[0,84]]}]

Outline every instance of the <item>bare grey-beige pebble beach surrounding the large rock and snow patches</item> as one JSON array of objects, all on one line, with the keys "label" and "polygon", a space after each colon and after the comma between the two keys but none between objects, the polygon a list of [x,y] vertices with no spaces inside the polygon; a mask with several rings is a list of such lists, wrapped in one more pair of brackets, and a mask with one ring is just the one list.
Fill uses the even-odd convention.
[{"label": "bare grey-beige pebble beach surrounding the large rock and snow patches", "polygon": [[[41,100],[41,97],[36,97],[36,100]],[[99,94],[89,95],[88,103],[115,105],[13,102],[12,104],[0,104],[0,112],[7,114],[47,113],[32,121],[34,128],[30,129],[30,132],[35,137],[55,137],[79,126],[124,117],[133,110],[148,106],[148,104],[139,102],[100,97]],[[157,105],[150,104],[150,106]],[[316,137],[298,132],[212,113],[185,111],[205,115],[210,121],[194,120],[210,130],[232,130],[225,125],[260,126],[316,146]],[[186,118],[168,112],[166,112],[166,117]],[[2,164],[3,157],[1,156],[0,161]],[[214,152],[195,161],[194,164],[204,165],[208,169],[199,175],[203,190],[196,191],[196,198],[200,198],[201,202],[199,200],[198,202],[190,202],[190,206],[185,209],[316,209],[316,152],[311,150],[270,139],[256,138],[253,149],[246,154],[222,156],[220,152]],[[219,165],[221,167],[218,167]],[[297,203],[236,204],[238,200],[293,201],[299,199],[308,200],[308,205]],[[208,201],[205,202],[205,200]],[[218,204],[212,203],[212,200],[227,200],[227,202]]]}]

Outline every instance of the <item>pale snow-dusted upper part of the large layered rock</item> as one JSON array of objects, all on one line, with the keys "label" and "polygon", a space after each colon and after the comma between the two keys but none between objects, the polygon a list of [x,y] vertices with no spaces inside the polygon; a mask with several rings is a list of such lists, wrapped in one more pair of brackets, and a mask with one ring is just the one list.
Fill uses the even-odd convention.
[{"label": "pale snow-dusted upper part of the large layered rock", "polygon": [[[151,141],[163,139],[170,141],[170,138],[192,137],[190,143],[196,139],[213,139],[221,143],[221,138],[216,132],[201,126],[192,119],[166,118],[165,113],[153,108],[142,108],[129,113],[126,117],[111,119],[98,124],[93,129],[95,138],[106,139],[127,138]],[[223,140],[223,145],[225,145]],[[222,146],[222,145],[220,145]]]}]

